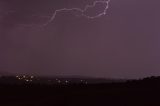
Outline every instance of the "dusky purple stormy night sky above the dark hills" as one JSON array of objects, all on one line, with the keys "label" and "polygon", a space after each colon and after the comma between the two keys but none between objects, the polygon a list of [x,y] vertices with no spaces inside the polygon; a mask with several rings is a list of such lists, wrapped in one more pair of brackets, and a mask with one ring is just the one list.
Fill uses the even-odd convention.
[{"label": "dusky purple stormy night sky above the dark hills", "polygon": [[[0,0],[0,71],[140,78],[160,75],[160,1]],[[85,15],[105,8],[97,3]],[[49,22],[49,23],[48,23]],[[45,25],[47,23],[47,25]],[[44,26],[45,25],[45,26]]]}]

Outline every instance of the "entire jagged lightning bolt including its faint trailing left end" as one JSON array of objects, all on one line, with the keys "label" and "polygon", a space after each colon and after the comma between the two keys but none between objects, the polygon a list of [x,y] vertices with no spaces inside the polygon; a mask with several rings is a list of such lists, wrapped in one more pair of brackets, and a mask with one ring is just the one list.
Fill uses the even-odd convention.
[{"label": "entire jagged lightning bolt including its faint trailing left end", "polygon": [[[37,25],[37,24],[34,24],[34,23],[33,24],[27,24],[27,25],[26,24],[19,24],[19,25],[20,26],[24,26],[24,27],[30,27],[30,28],[37,28],[38,27],[38,29],[39,28],[43,29],[47,25],[49,25],[50,23],[52,23],[54,21],[54,19],[56,18],[56,16],[57,16],[58,13],[61,13],[61,12],[64,12],[64,11],[67,11],[67,12],[77,11],[77,12],[79,12],[81,14],[82,17],[85,17],[87,19],[96,19],[96,18],[99,18],[99,17],[104,16],[104,15],[107,14],[107,10],[109,8],[109,2],[110,1],[111,0],[96,0],[96,1],[93,1],[92,4],[86,5],[83,9],[76,8],[76,7],[75,8],[61,8],[61,9],[57,9],[57,10],[54,11],[54,13],[52,13],[51,16],[40,16],[41,18],[47,18],[47,21],[45,23],[42,23],[41,25]],[[85,13],[89,9],[96,7],[97,4],[103,4],[105,6],[104,9],[100,13],[98,13],[98,14],[96,14],[94,16],[90,16],[90,15],[87,15]],[[31,17],[33,17],[33,16],[31,16]]]}]

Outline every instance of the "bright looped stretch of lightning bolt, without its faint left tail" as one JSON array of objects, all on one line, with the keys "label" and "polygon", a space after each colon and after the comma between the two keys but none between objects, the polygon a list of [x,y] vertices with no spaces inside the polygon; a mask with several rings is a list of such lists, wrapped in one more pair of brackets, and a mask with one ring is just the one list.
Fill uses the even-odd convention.
[{"label": "bright looped stretch of lightning bolt, without its faint left tail", "polygon": [[[47,23],[45,23],[43,26],[47,26],[48,24],[50,24],[52,21],[54,21],[54,19],[56,18],[56,15],[58,13],[60,13],[60,12],[63,12],[63,11],[73,11],[73,10],[75,10],[75,11],[80,12],[83,17],[86,17],[88,19],[99,18],[101,16],[104,16],[107,13],[107,10],[109,8],[109,2],[110,2],[110,0],[99,0],[99,1],[94,1],[91,5],[86,5],[84,9],[80,9],[80,8],[62,8],[62,9],[55,10],[55,12],[50,17],[50,19],[47,21]],[[105,8],[101,13],[99,13],[99,14],[97,14],[95,16],[89,16],[89,15],[85,14],[85,12],[89,8],[95,7],[98,3],[105,4]]]}]

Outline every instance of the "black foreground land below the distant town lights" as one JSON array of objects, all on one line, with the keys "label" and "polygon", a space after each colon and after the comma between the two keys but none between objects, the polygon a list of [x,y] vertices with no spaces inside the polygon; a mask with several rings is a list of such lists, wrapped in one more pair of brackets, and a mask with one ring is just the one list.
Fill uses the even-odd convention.
[{"label": "black foreground land below the distant town lights", "polygon": [[160,80],[77,85],[1,84],[0,106],[160,106]]}]

